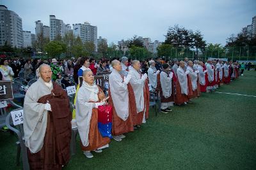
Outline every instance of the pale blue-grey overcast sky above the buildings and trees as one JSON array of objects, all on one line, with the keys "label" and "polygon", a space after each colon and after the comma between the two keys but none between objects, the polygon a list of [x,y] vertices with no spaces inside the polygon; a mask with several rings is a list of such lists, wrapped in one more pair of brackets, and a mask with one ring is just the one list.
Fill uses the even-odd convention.
[{"label": "pale blue-grey overcast sky above the buildings and trees", "polygon": [[49,15],[65,24],[90,22],[98,37],[117,43],[132,36],[164,41],[175,24],[204,34],[207,43],[225,45],[226,38],[252,24],[256,0],[0,0],[22,18],[24,31],[35,33],[35,21],[49,25]]}]

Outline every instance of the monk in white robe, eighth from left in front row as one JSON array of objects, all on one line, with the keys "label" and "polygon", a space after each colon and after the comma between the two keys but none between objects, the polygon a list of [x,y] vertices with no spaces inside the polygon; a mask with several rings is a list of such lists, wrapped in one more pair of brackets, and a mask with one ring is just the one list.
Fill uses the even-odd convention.
[{"label": "monk in white robe, eighth from left in front row", "polygon": [[191,89],[193,91],[192,96],[189,96],[189,98],[195,98],[197,97],[197,73],[199,73],[199,71],[194,71],[193,62],[191,60],[188,61],[187,71],[189,72],[188,75],[191,80]]}]

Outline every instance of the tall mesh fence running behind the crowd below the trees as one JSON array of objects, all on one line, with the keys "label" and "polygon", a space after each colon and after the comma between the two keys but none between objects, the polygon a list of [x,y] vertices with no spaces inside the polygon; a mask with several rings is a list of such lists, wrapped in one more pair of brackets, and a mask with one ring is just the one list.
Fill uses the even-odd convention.
[{"label": "tall mesh fence running behind the crowd below the trees", "polygon": [[[0,56],[9,55],[14,57],[15,53],[1,53]],[[120,58],[122,56],[129,57],[131,59],[146,60],[150,57],[163,57],[165,60],[180,59],[183,60],[185,57],[189,59],[200,59],[207,60],[209,57],[214,58],[227,58],[230,60],[256,60],[256,46],[233,46],[224,47],[218,50],[198,50],[196,53],[195,49],[191,48],[168,48],[164,52],[159,54],[148,52],[148,50],[137,50],[131,54],[129,50],[123,52],[122,50],[107,50],[104,53],[94,52],[93,57],[96,59],[101,59],[102,57],[106,59]],[[25,57],[19,55],[20,57]],[[28,57],[28,56],[26,56]],[[36,56],[46,59],[47,56]],[[70,58],[70,56],[65,56],[65,53],[61,54],[61,58]],[[73,57],[73,56],[71,56]]]}]

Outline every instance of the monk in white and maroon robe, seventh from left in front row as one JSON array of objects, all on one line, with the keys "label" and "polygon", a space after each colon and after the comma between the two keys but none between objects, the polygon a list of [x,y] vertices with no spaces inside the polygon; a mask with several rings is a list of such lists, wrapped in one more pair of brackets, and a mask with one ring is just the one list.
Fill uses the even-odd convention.
[{"label": "monk in white and maroon robe, seventh from left in front row", "polygon": [[179,62],[177,69],[176,99],[175,103],[186,104],[188,102],[188,72],[184,71],[184,61]]}]

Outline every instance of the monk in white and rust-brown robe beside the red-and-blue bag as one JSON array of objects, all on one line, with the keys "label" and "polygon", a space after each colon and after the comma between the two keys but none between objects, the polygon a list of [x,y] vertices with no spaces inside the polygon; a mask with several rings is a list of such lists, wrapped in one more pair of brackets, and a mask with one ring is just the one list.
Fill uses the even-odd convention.
[{"label": "monk in white and rust-brown robe beside the red-and-blue bag", "polygon": [[92,151],[100,153],[108,147],[110,139],[102,137],[98,129],[99,106],[105,104],[104,92],[94,84],[92,71],[83,71],[83,83],[77,92],[76,123],[81,139],[81,148],[87,158],[92,158]]}]

